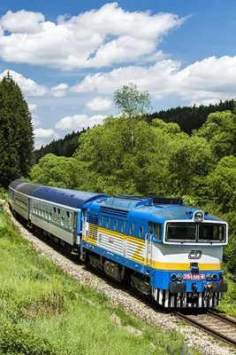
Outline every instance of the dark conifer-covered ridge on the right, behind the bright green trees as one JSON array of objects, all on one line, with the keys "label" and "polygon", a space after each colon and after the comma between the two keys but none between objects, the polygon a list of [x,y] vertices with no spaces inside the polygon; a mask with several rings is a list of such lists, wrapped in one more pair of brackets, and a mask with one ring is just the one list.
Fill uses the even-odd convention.
[{"label": "dark conifer-covered ridge on the right, behind the bright green trees", "polygon": [[209,114],[233,109],[234,100],[220,101],[219,104],[209,106],[184,106],[175,107],[168,110],[161,110],[148,115],[148,122],[155,118],[160,118],[164,122],[178,123],[181,130],[191,134],[192,130],[198,130],[206,121]]}]

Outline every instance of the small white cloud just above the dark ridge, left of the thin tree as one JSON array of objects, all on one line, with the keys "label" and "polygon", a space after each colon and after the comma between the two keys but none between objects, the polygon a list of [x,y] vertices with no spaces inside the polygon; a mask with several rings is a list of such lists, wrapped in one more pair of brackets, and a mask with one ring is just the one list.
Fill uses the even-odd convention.
[{"label": "small white cloud just above the dark ridge, left of the thin tree", "polygon": [[103,114],[96,114],[89,117],[87,114],[75,114],[66,116],[56,124],[59,130],[82,130],[83,128],[93,127],[94,125],[103,123],[106,118]]}]

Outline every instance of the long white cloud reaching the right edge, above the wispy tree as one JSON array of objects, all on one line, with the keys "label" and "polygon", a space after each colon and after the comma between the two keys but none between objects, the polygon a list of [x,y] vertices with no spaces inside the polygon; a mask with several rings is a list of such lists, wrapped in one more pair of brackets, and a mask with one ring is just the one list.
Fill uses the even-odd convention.
[{"label": "long white cloud reaching the right edge, above the wispy tree", "polygon": [[119,67],[107,73],[87,75],[71,90],[108,95],[127,83],[136,83],[153,99],[177,95],[190,104],[214,104],[220,99],[235,97],[236,56],[210,57],[183,69],[179,61],[171,59],[148,67]]}]

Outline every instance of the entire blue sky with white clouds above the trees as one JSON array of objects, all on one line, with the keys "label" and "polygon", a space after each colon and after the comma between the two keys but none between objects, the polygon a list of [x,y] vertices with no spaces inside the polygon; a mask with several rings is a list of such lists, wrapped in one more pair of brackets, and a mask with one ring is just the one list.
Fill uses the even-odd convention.
[{"label": "entire blue sky with white clouds above the trees", "polygon": [[235,98],[235,30],[234,0],[2,0],[0,78],[19,83],[38,147],[117,114],[126,83],[153,111]]}]

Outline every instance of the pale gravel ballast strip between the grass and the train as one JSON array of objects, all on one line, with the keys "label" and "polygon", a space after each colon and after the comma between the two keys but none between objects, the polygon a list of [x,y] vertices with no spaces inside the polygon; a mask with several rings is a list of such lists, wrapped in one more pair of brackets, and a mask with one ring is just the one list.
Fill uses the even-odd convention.
[{"label": "pale gravel ballast strip between the grass and the train", "polygon": [[[7,205],[4,209],[11,215],[11,211]],[[154,310],[137,299],[135,296],[129,295],[126,290],[113,288],[106,280],[102,280],[92,272],[89,272],[83,265],[75,264],[65,256],[57,252],[57,250],[49,247],[43,241],[34,236],[33,233],[20,225],[20,223],[11,215],[11,221],[19,227],[19,231],[23,238],[27,239],[34,245],[34,249],[42,256],[47,257],[54,263],[59,265],[61,269],[67,272],[72,278],[78,280],[90,288],[95,288],[98,292],[103,292],[110,298],[110,302],[115,305],[121,305],[127,312],[132,312],[135,316],[142,320],[155,323],[163,327],[166,331],[177,330],[184,335],[188,346],[198,348],[205,355],[232,355],[236,354],[231,347],[220,346],[216,339],[206,335],[196,327],[179,325],[179,319],[174,315],[164,313],[159,310]],[[191,351],[189,351],[191,353]]]}]

